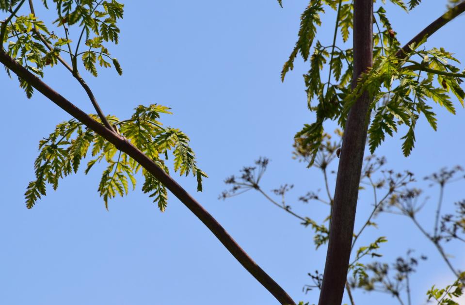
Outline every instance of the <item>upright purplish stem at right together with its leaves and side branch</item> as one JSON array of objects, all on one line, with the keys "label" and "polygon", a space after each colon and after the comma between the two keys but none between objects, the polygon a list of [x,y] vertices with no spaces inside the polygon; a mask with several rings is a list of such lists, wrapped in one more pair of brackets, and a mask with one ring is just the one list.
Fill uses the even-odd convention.
[{"label": "upright purplish stem at right together with its leaves and side branch", "polygon": [[[421,1],[390,2],[408,12]],[[374,153],[386,134],[405,132],[401,146],[403,155],[408,156],[415,145],[415,128],[421,116],[434,130],[437,128],[432,103],[455,114],[451,99],[455,96],[464,107],[461,84],[465,69],[448,50],[425,48],[424,44],[434,32],[465,11],[465,1],[448,1],[448,11],[403,47],[385,4],[386,0],[310,0],[301,16],[296,45],[281,73],[284,80],[299,54],[309,62],[310,69],[304,75],[305,91],[308,108],[315,112],[316,120],[295,135],[307,151],[308,166],[314,164],[323,145],[326,121],[336,121],[344,132],[331,202],[333,221],[320,305],[342,301],[347,282],[345,271],[350,266],[358,177],[362,174],[367,139],[369,150]],[[336,11],[332,41],[317,39],[318,27],[322,26],[320,16],[326,10]],[[339,35],[342,44],[337,44]],[[347,46],[351,35],[353,43]],[[329,67],[327,77],[321,75],[325,65]]]}]

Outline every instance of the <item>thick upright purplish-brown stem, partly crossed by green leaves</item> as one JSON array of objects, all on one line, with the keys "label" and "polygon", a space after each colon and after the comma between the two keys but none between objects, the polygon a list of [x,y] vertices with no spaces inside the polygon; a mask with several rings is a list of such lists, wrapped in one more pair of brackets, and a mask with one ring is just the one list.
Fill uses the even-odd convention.
[{"label": "thick upright purplish-brown stem, partly crossed by green leaves", "polygon": [[[373,61],[373,0],[353,1],[353,81]],[[351,255],[353,225],[369,121],[368,94],[355,101],[347,117],[319,305],[340,305]]]}]

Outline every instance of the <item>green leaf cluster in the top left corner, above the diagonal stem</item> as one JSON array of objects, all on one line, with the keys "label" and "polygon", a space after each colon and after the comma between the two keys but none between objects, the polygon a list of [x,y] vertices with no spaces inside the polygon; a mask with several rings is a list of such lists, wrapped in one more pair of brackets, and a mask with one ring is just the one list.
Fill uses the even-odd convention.
[{"label": "green leaf cluster in the top left corner, above the diagonal stem", "polygon": [[[0,1],[1,10],[18,9],[24,1]],[[19,2],[19,3],[18,3]],[[44,68],[58,63],[60,56],[70,58],[73,73],[77,75],[78,58],[84,68],[92,75],[97,76],[96,64],[107,68],[114,65],[118,74],[123,70],[116,58],[113,58],[104,43],[118,43],[120,32],[117,21],[123,17],[124,5],[115,1],[89,1],[89,0],[54,0],[58,18],[55,19],[55,31],[48,30],[43,21],[33,14],[11,15],[8,23],[2,23],[1,43],[7,42],[7,53],[16,61],[29,69],[37,76],[43,77]],[[43,4],[46,8],[47,2]],[[76,35],[76,43],[70,38],[70,29],[80,32]],[[60,37],[57,33],[63,31]],[[57,33],[55,33],[57,32]],[[80,51],[82,43],[87,47]],[[50,49],[44,45],[48,44]],[[7,73],[9,71],[7,70]],[[31,98],[33,89],[24,80],[19,85]]]}]

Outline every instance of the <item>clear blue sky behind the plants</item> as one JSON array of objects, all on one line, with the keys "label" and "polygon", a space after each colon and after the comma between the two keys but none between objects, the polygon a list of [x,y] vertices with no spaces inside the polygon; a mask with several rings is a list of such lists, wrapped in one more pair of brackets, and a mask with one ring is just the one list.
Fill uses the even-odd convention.
[{"label": "clear blue sky behind the plants", "polygon": [[[423,2],[408,15],[386,5],[401,43],[445,12],[445,0]],[[112,69],[100,69],[98,78],[84,73],[100,106],[120,118],[139,104],[171,107],[174,115],[162,121],[191,137],[198,165],[209,175],[203,193],[195,193],[191,177],[176,180],[295,301],[318,302],[318,291],[302,290],[312,283],[308,272],[322,271],[326,253],[323,247],[315,251],[311,229],[257,193],[218,200],[226,188],[225,177],[266,156],[271,163],[264,189],[294,184],[288,195],[293,209],[317,220],[325,216],[320,208],[297,202],[307,191],[323,186],[321,175],[291,159],[295,132],[314,119],[307,110],[302,79],[308,64],[296,60],[294,71],[280,81],[307,1],[284,0],[284,9],[274,0],[124,3],[120,44],[109,48],[119,59],[123,76]],[[38,8],[37,14],[49,16]],[[323,44],[331,44],[334,19],[332,12],[323,16],[319,32]],[[435,33],[427,47],[445,47],[465,61],[460,30],[464,24],[465,16],[459,16]],[[48,69],[45,81],[84,111],[93,112],[67,72],[62,67]],[[66,177],[56,192],[49,188],[33,209],[26,209],[23,194],[34,177],[38,141],[70,117],[40,94],[28,100],[17,81],[3,72],[0,88],[0,304],[277,304],[173,195],[166,212],[160,213],[138,185],[135,192],[110,201],[107,211],[96,192],[101,167],[87,176],[81,169]],[[454,102],[455,116],[435,108],[437,132],[421,121],[409,158],[401,153],[403,134],[388,138],[376,154],[386,156],[389,168],[416,173],[424,187],[421,178],[441,167],[464,166],[465,112]],[[327,125],[328,131],[334,128]],[[334,179],[330,184],[334,188]],[[453,210],[452,203],[463,199],[464,186],[461,181],[447,187],[445,210]],[[431,227],[438,192],[432,188],[427,193],[431,200],[420,220]],[[370,204],[369,199],[360,201],[357,220],[364,218]],[[453,280],[433,244],[408,219],[382,215],[376,221],[379,229],[367,230],[360,245],[386,236],[381,260],[392,262],[409,248],[429,258],[412,278],[413,304],[425,303],[426,290],[433,284]],[[460,255],[464,247],[451,243],[446,250],[455,254],[451,260],[456,266],[465,269]],[[385,294],[354,295],[357,305],[373,300],[378,305],[396,304]]]}]

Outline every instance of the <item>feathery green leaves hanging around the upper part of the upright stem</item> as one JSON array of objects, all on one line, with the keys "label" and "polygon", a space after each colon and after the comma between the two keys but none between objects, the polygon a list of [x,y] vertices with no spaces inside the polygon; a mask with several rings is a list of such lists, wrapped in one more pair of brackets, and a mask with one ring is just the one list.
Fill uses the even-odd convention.
[{"label": "feathery green leaves hanging around the upper part of the upright stem", "polygon": [[[374,64],[358,80],[352,90],[353,74],[351,48],[342,46],[323,46],[316,39],[316,27],[321,25],[320,13],[325,6],[338,10],[337,29],[340,30],[345,43],[353,28],[353,4],[344,1],[311,0],[301,17],[301,25],[295,48],[290,54],[282,71],[282,79],[293,68],[293,60],[300,53],[304,61],[310,61],[310,70],[304,75],[307,104],[310,111],[316,112],[316,121],[305,124],[296,134],[302,144],[307,146],[311,154],[309,165],[315,161],[318,148],[322,144],[326,120],[337,120],[340,127],[345,127],[349,110],[354,101],[364,92],[372,99],[371,112],[373,120],[369,124],[369,149],[373,153],[385,140],[385,135],[393,136],[406,126],[405,135],[401,138],[402,152],[408,156],[415,145],[415,127],[420,116],[424,115],[431,127],[436,130],[437,119],[430,101],[444,107],[455,114],[455,106],[451,96],[455,96],[464,107],[465,92],[461,87],[465,78],[464,71],[455,64],[460,64],[453,54],[444,48],[419,49],[424,41],[410,46],[411,51],[400,59],[396,53],[400,42],[383,6],[374,11]],[[385,1],[382,1],[385,3]],[[408,11],[416,7],[420,0],[411,0],[407,5],[402,0],[391,0],[392,3]],[[453,3],[452,3],[453,4]],[[340,8],[338,7],[340,5]],[[334,41],[336,41],[336,36]],[[328,48],[334,51],[329,53]],[[310,54],[312,54],[310,56]],[[331,56],[330,56],[331,55]],[[415,61],[419,57],[421,61]],[[452,64],[455,63],[455,64]],[[320,71],[325,65],[330,67],[328,82],[321,80]],[[317,99],[318,105],[311,101]]]}]

